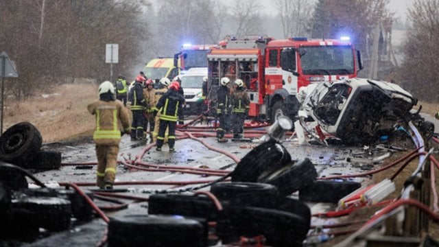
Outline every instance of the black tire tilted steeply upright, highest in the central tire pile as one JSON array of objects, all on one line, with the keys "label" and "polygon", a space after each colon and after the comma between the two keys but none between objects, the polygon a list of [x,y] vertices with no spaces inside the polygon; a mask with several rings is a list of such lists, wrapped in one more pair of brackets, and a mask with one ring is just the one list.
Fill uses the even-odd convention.
[{"label": "black tire tilted steeply upright, highest in the central tire pile", "polygon": [[271,173],[291,161],[289,152],[275,140],[266,141],[239,161],[231,174],[232,182],[256,183],[261,174]]}]

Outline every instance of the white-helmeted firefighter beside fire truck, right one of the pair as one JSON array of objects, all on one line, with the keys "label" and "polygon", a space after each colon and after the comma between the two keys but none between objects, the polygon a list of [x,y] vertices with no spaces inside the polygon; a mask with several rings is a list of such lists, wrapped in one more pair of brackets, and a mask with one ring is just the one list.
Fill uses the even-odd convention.
[{"label": "white-helmeted firefighter beside fire truck, right one of the pair", "polygon": [[241,79],[235,80],[235,91],[230,97],[232,102],[232,129],[233,138],[241,139],[244,132],[244,120],[250,109],[250,96],[244,88],[244,82]]}]

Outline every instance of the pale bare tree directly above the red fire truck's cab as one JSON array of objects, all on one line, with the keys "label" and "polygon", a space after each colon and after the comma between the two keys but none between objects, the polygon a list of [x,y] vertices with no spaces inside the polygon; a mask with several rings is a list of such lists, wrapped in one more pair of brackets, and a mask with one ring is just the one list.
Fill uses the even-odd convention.
[{"label": "pale bare tree directly above the red fire truck's cab", "polygon": [[315,0],[276,0],[283,27],[283,36],[307,36],[308,23],[313,12]]}]

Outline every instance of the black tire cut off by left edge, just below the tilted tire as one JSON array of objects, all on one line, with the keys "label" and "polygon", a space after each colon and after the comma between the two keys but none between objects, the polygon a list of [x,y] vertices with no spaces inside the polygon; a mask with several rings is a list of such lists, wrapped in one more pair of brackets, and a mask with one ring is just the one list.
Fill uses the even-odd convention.
[{"label": "black tire cut off by left edge, just below the tilted tire", "polygon": [[28,187],[25,175],[14,168],[14,165],[0,162],[0,182],[11,190],[19,190]]}]

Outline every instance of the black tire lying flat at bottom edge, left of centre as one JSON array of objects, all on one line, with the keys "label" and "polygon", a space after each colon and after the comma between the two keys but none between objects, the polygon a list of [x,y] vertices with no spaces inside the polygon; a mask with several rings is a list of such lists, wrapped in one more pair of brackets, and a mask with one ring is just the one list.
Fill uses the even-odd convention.
[{"label": "black tire lying flat at bottom edge, left of centre", "polygon": [[[178,205],[175,205],[178,207]],[[206,246],[207,230],[178,215],[122,215],[108,223],[108,246]]]}]

